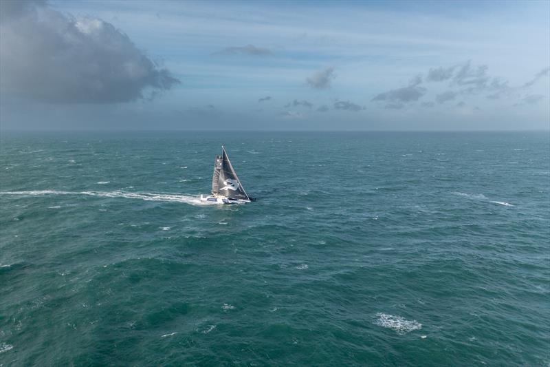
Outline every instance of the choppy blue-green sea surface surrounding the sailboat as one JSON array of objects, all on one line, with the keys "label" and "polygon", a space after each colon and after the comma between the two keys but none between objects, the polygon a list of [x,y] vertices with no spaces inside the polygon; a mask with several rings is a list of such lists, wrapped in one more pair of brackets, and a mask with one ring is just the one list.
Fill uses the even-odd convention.
[{"label": "choppy blue-green sea surface surrounding the sailboat", "polygon": [[549,256],[547,132],[1,134],[0,366],[549,366]]}]

